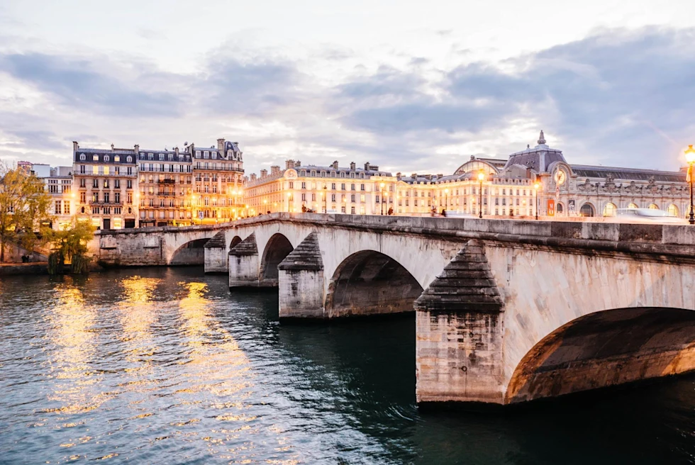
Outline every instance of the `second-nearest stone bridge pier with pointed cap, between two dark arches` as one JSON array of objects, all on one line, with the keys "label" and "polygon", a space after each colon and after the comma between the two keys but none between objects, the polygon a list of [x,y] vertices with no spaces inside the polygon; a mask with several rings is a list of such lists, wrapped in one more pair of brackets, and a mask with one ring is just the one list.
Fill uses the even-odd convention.
[{"label": "second-nearest stone bridge pier with pointed cap, between two dark arches", "polygon": [[311,232],[277,267],[279,318],[323,318],[323,260]]}]

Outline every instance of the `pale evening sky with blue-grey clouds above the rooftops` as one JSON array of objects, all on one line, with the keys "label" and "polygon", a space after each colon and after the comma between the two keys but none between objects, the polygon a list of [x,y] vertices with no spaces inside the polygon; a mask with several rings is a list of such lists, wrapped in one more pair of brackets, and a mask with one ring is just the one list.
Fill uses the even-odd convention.
[{"label": "pale evening sky with blue-grey clouds above the rooftops", "polygon": [[541,129],[569,163],[682,166],[695,1],[0,1],[6,162],[226,138],[247,173],[450,174]]}]

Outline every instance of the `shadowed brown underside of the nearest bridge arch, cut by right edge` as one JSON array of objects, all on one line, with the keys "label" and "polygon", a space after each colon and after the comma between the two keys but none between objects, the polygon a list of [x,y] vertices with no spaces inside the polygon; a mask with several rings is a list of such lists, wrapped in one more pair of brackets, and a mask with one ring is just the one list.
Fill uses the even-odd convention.
[{"label": "shadowed brown underside of the nearest bridge arch, cut by right edge", "polygon": [[617,308],[570,321],[521,359],[504,403],[695,370],[695,311]]}]

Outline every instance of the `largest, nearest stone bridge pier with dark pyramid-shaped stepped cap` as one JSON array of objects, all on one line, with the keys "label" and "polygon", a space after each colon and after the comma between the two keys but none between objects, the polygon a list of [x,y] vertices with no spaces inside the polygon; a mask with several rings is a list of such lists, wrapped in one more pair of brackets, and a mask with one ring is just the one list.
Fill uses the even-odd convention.
[{"label": "largest, nearest stone bridge pier with dark pyramid-shaped stepped cap", "polygon": [[502,299],[469,241],[416,303],[416,399],[504,402]]}]

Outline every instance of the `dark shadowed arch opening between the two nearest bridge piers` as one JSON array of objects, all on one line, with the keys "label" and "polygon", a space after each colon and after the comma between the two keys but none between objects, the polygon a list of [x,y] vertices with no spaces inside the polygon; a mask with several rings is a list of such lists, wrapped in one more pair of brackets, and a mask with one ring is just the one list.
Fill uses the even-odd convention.
[{"label": "dark shadowed arch opening between the two nearest bridge piers", "polygon": [[395,259],[375,250],[356,252],[328,284],[326,315],[374,315],[413,311],[422,286]]}]

